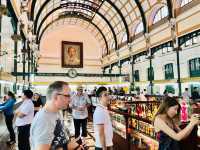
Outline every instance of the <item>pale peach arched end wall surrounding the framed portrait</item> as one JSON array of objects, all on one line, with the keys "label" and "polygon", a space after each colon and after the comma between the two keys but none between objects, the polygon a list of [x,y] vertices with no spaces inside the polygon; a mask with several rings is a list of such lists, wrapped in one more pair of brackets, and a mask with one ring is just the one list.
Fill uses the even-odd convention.
[{"label": "pale peach arched end wall surrounding the framed portrait", "polygon": [[[83,68],[76,68],[78,73],[102,73],[101,48],[98,41],[87,30],[75,25],[63,25],[47,32],[41,41],[38,72],[66,73],[68,68],[61,67],[61,42],[83,42]],[[51,78],[49,78],[51,79]],[[62,79],[62,78],[60,78]],[[36,77],[36,81],[46,80]],[[68,78],[69,82],[80,81],[79,78]],[[95,80],[86,78],[86,81]],[[86,82],[84,81],[84,82]],[[99,81],[97,79],[97,81]]]}]

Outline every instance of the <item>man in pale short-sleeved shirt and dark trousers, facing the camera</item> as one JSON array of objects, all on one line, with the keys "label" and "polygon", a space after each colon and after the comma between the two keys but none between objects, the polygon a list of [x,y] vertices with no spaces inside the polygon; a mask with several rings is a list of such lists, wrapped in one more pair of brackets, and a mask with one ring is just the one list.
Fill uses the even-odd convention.
[{"label": "man in pale short-sleeved shirt and dark trousers, facing the camera", "polygon": [[90,99],[86,93],[83,93],[83,87],[77,87],[77,94],[72,97],[71,102],[72,116],[74,119],[75,138],[80,136],[80,128],[82,129],[83,142],[87,137],[87,118],[88,118],[88,106],[90,105]]}]

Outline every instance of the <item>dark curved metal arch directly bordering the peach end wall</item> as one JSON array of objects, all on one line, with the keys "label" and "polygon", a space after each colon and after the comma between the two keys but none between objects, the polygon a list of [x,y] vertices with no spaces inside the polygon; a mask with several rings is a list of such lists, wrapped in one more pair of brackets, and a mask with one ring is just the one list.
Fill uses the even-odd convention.
[{"label": "dark curved metal arch directly bordering the peach end wall", "polygon": [[37,35],[37,37],[39,37],[39,38],[38,38],[38,44],[40,45],[40,41],[41,41],[41,39],[42,39],[42,36],[44,35],[45,31],[46,31],[53,23],[55,23],[56,21],[59,21],[60,19],[65,19],[65,18],[73,17],[73,18],[82,19],[82,20],[84,20],[84,21],[87,21],[87,22],[91,23],[91,24],[101,33],[101,35],[102,35],[102,37],[103,37],[103,39],[104,39],[104,42],[105,42],[105,44],[106,44],[106,49],[107,49],[107,54],[108,54],[108,53],[109,53],[108,42],[107,42],[107,40],[106,40],[105,35],[104,35],[103,32],[101,31],[101,29],[100,29],[95,23],[91,22],[91,20],[88,19],[88,18],[86,17],[86,15],[83,14],[82,12],[74,12],[74,13],[79,13],[79,15],[74,15],[74,14],[72,14],[72,13],[69,11],[69,12],[66,12],[65,14],[63,14],[62,17],[60,16],[60,17],[56,18],[55,20],[53,20],[52,22],[50,22],[49,24],[47,24],[47,25],[44,27],[44,29],[42,30],[41,34],[40,34],[40,35],[39,35],[39,34]]}]

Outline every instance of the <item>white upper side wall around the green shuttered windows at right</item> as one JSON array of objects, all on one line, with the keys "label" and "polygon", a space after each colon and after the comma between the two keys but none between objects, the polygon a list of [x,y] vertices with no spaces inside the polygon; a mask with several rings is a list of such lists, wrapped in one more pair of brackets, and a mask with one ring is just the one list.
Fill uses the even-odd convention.
[{"label": "white upper side wall around the green shuttered windows at right", "polygon": [[[185,47],[180,51],[180,74],[181,78],[189,78],[189,60],[193,58],[200,57],[200,44]],[[173,63],[174,70],[174,80],[165,80],[164,65],[168,63]],[[172,51],[166,54],[162,54],[160,51],[152,60],[152,65],[154,68],[154,80],[161,80],[163,83],[154,83],[154,92],[163,93],[166,85],[173,85],[176,89],[176,95],[178,95],[178,84],[177,84],[177,61],[176,61],[176,52]],[[125,66],[124,66],[125,67]],[[141,89],[147,88],[149,81],[147,81],[147,68],[149,67],[149,60],[145,59],[140,62],[136,62],[134,70],[139,70],[140,82],[136,82],[136,86],[140,86]],[[122,68],[126,70],[128,67]],[[125,73],[123,72],[122,73]],[[131,68],[129,70],[131,73]],[[190,81],[187,83],[182,83],[182,92],[184,88],[188,87],[191,84],[199,84],[198,81]]]}]

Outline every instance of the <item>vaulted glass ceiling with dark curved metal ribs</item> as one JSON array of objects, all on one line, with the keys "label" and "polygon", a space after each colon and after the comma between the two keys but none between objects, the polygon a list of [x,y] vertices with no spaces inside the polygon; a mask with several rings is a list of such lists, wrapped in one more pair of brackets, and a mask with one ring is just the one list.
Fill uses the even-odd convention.
[{"label": "vaulted glass ceiling with dark curved metal ribs", "polygon": [[98,30],[106,52],[117,50],[123,42],[130,42],[133,28],[143,23],[148,32],[148,20],[159,5],[168,7],[169,18],[173,16],[171,0],[32,0],[30,19],[34,21],[34,34],[39,43],[48,26],[63,18],[79,18]]}]

